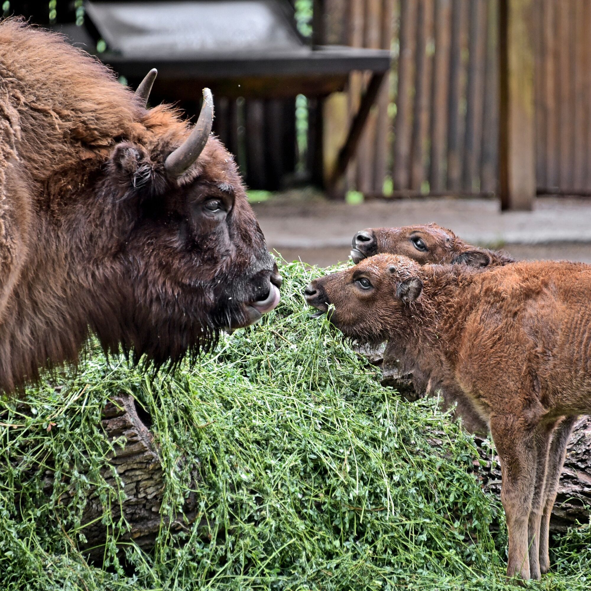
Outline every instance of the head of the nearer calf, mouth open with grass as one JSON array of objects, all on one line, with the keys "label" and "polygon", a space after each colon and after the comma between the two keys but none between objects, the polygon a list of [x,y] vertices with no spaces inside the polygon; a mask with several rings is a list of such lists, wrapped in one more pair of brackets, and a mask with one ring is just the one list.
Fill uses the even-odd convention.
[{"label": "head of the nearer calf, mouth open with grass", "polygon": [[400,332],[401,326],[412,324],[412,310],[422,290],[417,262],[381,254],[312,281],[304,294],[307,303],[326,312],[343,335],[376,344],[392,336],[392,326]]}]

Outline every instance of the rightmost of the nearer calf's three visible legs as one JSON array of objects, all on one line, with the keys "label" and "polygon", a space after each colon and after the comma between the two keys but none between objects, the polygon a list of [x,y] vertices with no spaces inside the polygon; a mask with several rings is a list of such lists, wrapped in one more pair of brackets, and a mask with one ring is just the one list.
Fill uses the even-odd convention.
[{"label": "rightmost of the nearer calf's three visible legs", "polygon": [[550,554],[548,553],[548,541],[550,530],[550,516],[556,501],[560,475],[566,456],[566,447],[570,434],[578,417],[564,417],[553,433],[550,453],[548,454],[548,469],[544,486],[544,505],[540,524],[540,571],[547,573],[550,570]]}]

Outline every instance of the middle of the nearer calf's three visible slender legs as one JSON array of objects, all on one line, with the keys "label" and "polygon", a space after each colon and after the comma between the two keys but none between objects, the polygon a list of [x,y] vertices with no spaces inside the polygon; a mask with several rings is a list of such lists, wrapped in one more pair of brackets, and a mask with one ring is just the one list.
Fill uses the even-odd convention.
[{"label": "middle of the nearer calf's three visible slender legs", "polygon": [[535,433],[536,465],[534,495],[531,499],[530,517],[528,519],[527,543],[530,556],[530,576],[532,579],[540,579],[540,523],[544,508],[544,486],[548,465],[548,452],[550,441],[554,431],[555,422],[548,425],[540,425]]}]

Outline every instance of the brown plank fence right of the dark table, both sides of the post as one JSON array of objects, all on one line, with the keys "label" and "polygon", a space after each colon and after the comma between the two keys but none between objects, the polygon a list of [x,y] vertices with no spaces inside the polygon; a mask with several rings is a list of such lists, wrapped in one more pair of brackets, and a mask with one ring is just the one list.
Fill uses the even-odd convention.
[{"label": "brown plank fence right of the dark table, both sides of the post", "polygon": [[[326,42],[391,43],[394,56],[388,88],[350,167],[349,187],[410,196],[497,193],[499,0],[323,5],[329,24],[330,13],[345,17],[328,27]],[[527,20],[537,192],[591,194],[591,2],[534,0]],[[353,76],[352,108],[361,86]]]}]

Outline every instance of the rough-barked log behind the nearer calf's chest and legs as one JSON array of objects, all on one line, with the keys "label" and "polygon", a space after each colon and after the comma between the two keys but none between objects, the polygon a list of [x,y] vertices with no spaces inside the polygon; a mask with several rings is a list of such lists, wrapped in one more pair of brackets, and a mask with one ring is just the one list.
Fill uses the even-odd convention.
[{"label": "rough-barked log behind the nearer calf's chest and legs", "polygon": [[[424,396],[413,387],[412,374],[403,374],[395,359],[388,359],[385,347],[368,350],[359,349],[372,365],[382,369],[382,385],[391,386],[408,401],[415,401]],[[480,459],[474,460],[474,471],[485,491],[501,496],[501,465],[496,454],[491,453],[490,444],[482,437],[475,436]],[[434,440],[437,445],[438,441]],[[439,441],[441,444],[441,441]],[[591,515],[591,417],[581,417],[573,428],[567,448],[566,460],[558,496],[550,521],[550,531],[564,532],[568,527],[579,523],[588,523]]]}]

